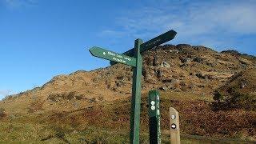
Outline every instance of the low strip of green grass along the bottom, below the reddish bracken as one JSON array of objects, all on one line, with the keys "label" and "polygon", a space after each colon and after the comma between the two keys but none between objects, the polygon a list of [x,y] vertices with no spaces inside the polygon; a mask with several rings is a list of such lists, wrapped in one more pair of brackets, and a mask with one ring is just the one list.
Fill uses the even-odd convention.
[{"label": "low strip of green grass along the bottom, below the reddish bracken", "polygon": [[[128,130],[72,126],[38,125],[32,123],[0,122],[0,143],[129,143]],[[232,139],[182,136],[182,143],[248,143]],[[149,134],[142,132],[140,143],[149,143]],[[170,135],[162,134],[162,143],[170,143]]]}]

